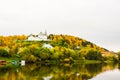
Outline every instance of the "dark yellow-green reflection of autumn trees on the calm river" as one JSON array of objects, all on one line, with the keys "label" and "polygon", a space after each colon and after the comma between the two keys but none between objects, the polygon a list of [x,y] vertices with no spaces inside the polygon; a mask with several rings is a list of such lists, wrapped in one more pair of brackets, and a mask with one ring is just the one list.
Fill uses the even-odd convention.
[{"label": "dark yellow-green reflection of autumn trees on the calm river", "polygon": [[118,64],[29,64],[0,66],[0,80],[88,80]]}]

